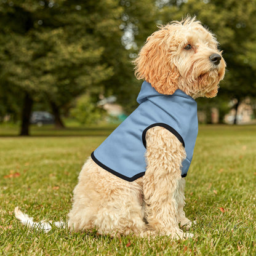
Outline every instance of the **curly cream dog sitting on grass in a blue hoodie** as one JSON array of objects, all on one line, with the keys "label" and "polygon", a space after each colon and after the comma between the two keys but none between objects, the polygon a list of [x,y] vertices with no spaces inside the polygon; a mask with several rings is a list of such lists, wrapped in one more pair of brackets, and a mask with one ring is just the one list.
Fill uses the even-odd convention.
[{"label": "curly cream dog sitting on grass in a blue hoodie", "polygon": [[[68,227],[190,238],[180,227],[193,224],[183,207],[198,134],[195,98],[217,95],[225,60],[214,34],[187,17],[151,34],[134,63],[140,105],[82,167]],[[25,223],[18,208],[15,215]]]}]

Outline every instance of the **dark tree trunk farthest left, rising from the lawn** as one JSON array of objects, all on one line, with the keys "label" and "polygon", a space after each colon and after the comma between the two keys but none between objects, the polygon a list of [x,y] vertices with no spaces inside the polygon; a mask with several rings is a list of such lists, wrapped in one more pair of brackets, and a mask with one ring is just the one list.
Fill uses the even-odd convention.
[{"label": "dark tree trunk farthest left, rising from the lawn", "polygon": [[20,135],[30,135],[30,116],[32,112],[33,99],[28,92],[25,93],[23,109],[22,109],[22,126],[20,127]]}]

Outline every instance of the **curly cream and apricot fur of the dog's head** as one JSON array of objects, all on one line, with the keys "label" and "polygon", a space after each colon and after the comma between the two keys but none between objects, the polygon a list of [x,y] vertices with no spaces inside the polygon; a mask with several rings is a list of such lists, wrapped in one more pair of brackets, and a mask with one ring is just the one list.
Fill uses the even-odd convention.
[{"label": "curly cream and apricot fur of the dog's head", "polygon": [[[191,50],[184,47],[191,44]],[[148,37],[138,58],[135,74],[161,94],[181,89],[194,98],[215,97],[218,83],[225,74],[222,58],[218,68],[209,62],[217,49],[215,36],[195,18],[172,22]]]}]

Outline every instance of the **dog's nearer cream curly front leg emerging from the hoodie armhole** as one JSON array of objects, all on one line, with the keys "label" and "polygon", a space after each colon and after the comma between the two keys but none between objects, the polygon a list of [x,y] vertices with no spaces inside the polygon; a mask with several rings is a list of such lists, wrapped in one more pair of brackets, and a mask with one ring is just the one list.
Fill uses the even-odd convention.
[{"label": "dog's nearer cream curly front leg emerging from the hoodie armhole", "polygon": [[153,127],[146,133],[147,169],[143,177],[145,215],[154,233],[184,238],[178,226],[178,183],[185,158],[182,143],[169,130]]}]

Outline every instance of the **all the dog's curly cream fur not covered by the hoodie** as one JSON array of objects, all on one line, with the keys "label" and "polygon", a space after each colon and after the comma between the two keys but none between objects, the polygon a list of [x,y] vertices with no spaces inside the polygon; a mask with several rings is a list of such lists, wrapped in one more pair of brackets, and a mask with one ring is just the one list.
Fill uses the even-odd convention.
[{"label": "all the dog's curly cream fur not covered by the hoodie", "polygon": [[[193,98],[214,97],[226,66],[214,35],[195,18],[172,22],[153,33],[135,65],[137,78],[150,82],[159,93],[170,95],[180,89]],[[179,227],[192,224],[183,211],[185,179],[180,169],[185,157],[177,137],[156,126],[146,133],[145,175],[134,182],[116,177],[89,158],[74,188],[69,228],[97,228],[111,236],[191,237]],[[25,222],[25,215],[18,209],[16,213]]]}]

